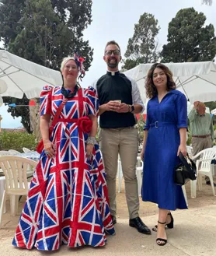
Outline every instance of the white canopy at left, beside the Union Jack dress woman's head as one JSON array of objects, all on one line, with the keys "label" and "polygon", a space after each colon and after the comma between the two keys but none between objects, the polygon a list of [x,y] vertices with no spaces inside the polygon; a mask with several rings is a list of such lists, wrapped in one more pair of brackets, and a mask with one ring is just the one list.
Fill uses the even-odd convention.
[{"label": "white canopy at left, beside the Union Jack dress woman's head", "polygon": [[21,99],[25,93],[28,99],[32,99],[40,96],[43,86],[61,85],[62,79],[58,71],[0,50],[0,88],[5,83],[7,90],[1,96]]}]

